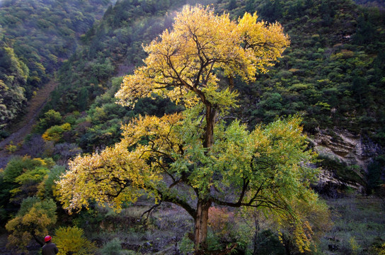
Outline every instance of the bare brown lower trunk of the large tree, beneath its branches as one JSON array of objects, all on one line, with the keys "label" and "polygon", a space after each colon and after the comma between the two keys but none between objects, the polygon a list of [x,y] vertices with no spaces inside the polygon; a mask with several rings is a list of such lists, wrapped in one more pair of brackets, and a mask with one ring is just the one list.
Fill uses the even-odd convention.
[{"label": "bare brown lower trunk of the large tree, beneath its branches", "polygon": [[197,215],[195,217],[194,252],[204,254],[207,249],[207,223],[209,220],[209,208],[211,201],[198,200]]}]

